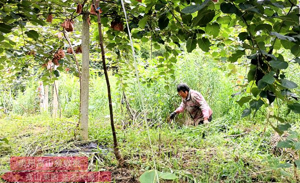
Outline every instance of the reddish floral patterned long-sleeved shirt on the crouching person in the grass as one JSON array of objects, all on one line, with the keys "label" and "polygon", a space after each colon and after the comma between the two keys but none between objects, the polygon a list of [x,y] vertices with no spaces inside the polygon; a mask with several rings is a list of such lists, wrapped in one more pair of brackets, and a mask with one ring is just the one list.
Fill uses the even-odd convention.
[{"label": "reddish floral patterned long-sleeved shirt on the crouching person in the grass", "polygon": [[178,108],[174,112],[180,113],[184,109],[188,111],[194,124],[198,124],[204,117],[209,118],[212,114],[211,108],[208,106],[206,100],[198,91],[190,89],[186,98],[182,98],[182,101]]}]

